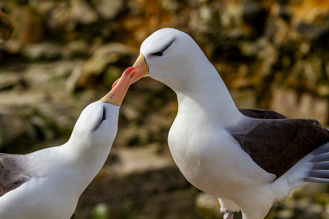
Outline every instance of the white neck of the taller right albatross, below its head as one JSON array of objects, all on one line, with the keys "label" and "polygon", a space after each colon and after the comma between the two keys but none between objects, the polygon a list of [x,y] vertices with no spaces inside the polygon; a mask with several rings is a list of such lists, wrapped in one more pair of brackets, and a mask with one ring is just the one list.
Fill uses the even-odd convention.
[{"label": "white neck of the taller right albatross, below its head", "polygon": [[[235,106],[232,97],[214,66],[207,60],[204,66],[194,69],[193,80],[184,90],[174,91],[178,99],[178,113],[204,113],[211,121],[223,126],[236,124],[243,115]],[[205,69],[207,72],[204,72]],[[196,77],[194,77],[196,76]]]}]

